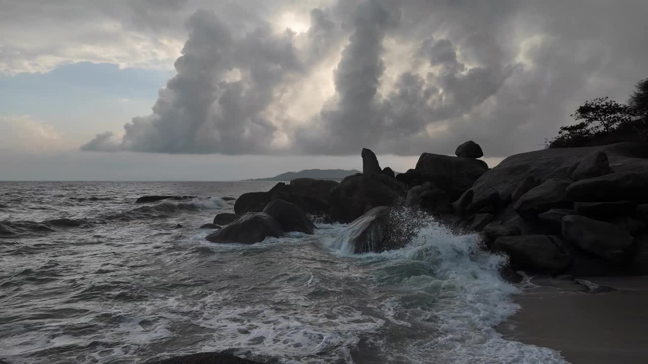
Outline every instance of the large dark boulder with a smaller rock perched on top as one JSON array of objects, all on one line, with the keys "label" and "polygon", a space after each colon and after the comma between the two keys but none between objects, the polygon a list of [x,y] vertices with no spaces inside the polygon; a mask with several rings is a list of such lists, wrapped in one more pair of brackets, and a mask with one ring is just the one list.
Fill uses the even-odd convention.
[{"label": "large dark boulder with a smaller rock perched on top", "polygon": [[488,170],[488,165],[479,159],[423,153],[415,170],[428,173],[428,180],[448,192],[454,200],[472,187],[474,181]]}]

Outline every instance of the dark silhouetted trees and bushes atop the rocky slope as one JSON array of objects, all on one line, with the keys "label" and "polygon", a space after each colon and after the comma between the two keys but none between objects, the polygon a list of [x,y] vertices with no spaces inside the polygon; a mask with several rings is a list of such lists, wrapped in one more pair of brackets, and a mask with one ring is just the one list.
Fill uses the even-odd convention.
[{"label": "dark silhouetted trees and bushes atop the rocky slope", "polygon": [[571,115],[577,124],[562,126],[547,148],[604,145],[648,140],[648,78],[638,82],[627,104],[608,97],[588,100]]}]

